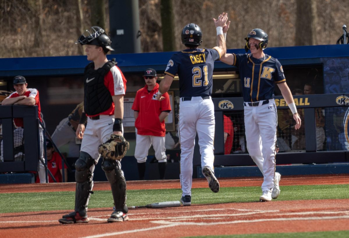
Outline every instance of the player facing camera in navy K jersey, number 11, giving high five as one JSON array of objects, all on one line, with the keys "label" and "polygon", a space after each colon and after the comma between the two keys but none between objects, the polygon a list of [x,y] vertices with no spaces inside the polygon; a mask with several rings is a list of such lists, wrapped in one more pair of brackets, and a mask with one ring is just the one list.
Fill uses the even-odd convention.
[{"label": "player facing camera in navy K jersey, number 11, giving high five", "polygon": [[[229,27],[228,27],[229,28]],[[228,28],[224,28],[226,32]],[[280,62],[263,50],[268,35],[253,29],[245,38],[245,50],[250,54],[225,54],[222,62],[239,68],[244,97],[244,118],[247,150],[263,174],[260,201],[271,201],[280,194],[280,173],[275,172],[275,143],[277,113],[274,102],[275,83],[293,113],[295,129],[300,128],[300,117]]]}]

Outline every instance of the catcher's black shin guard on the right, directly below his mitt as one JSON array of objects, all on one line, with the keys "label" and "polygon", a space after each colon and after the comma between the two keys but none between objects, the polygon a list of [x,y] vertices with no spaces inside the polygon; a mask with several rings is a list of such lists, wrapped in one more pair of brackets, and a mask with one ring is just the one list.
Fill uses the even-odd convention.
[{"label": "catcher's black shin guard on the right, directly below his mitt", "polygon": [[126,181],[122,172],[120,161],[103,158],[102,169],[110,183],[116,211],[128,212],[126,206]]}]

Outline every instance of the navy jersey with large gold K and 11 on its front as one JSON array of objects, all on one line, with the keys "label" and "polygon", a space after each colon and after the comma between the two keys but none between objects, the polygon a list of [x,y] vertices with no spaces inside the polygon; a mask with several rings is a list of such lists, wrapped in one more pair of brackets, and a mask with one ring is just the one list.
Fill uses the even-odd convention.
[{"label": "navy jersey with large gold K and 11 on its front", "polygon": [[234,66],[239,68],[244,102],[274,98],[275,83],[285,82],[279,60],[265,55],[255,59],[251,54],[234,54]]}]

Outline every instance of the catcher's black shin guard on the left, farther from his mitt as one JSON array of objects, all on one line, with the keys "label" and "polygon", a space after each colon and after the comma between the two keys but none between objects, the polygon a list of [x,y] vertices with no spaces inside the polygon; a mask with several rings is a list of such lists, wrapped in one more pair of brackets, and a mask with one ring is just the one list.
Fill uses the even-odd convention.
[{"label": "catcher's black shin guard on the left, farther from his mitt", "polygon": [[75,211],[79,212],[80,216],[86,215],[90,194],[93,193],[92,172],[94,166],[95,160],[88,153],[81,151],[75,162]]}]

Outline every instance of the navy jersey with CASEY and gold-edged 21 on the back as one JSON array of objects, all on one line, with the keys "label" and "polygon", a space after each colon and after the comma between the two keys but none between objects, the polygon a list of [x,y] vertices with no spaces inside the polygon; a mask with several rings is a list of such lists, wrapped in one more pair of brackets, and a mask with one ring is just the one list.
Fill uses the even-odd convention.
[{"label": "navy jersey with CASEY and gold-edged 21 on the back", "polygon": [[220,58],[215,49],[187,49],[172,55],[165,74],[178,74],[180,97],[210,96],[214,61]]}]

